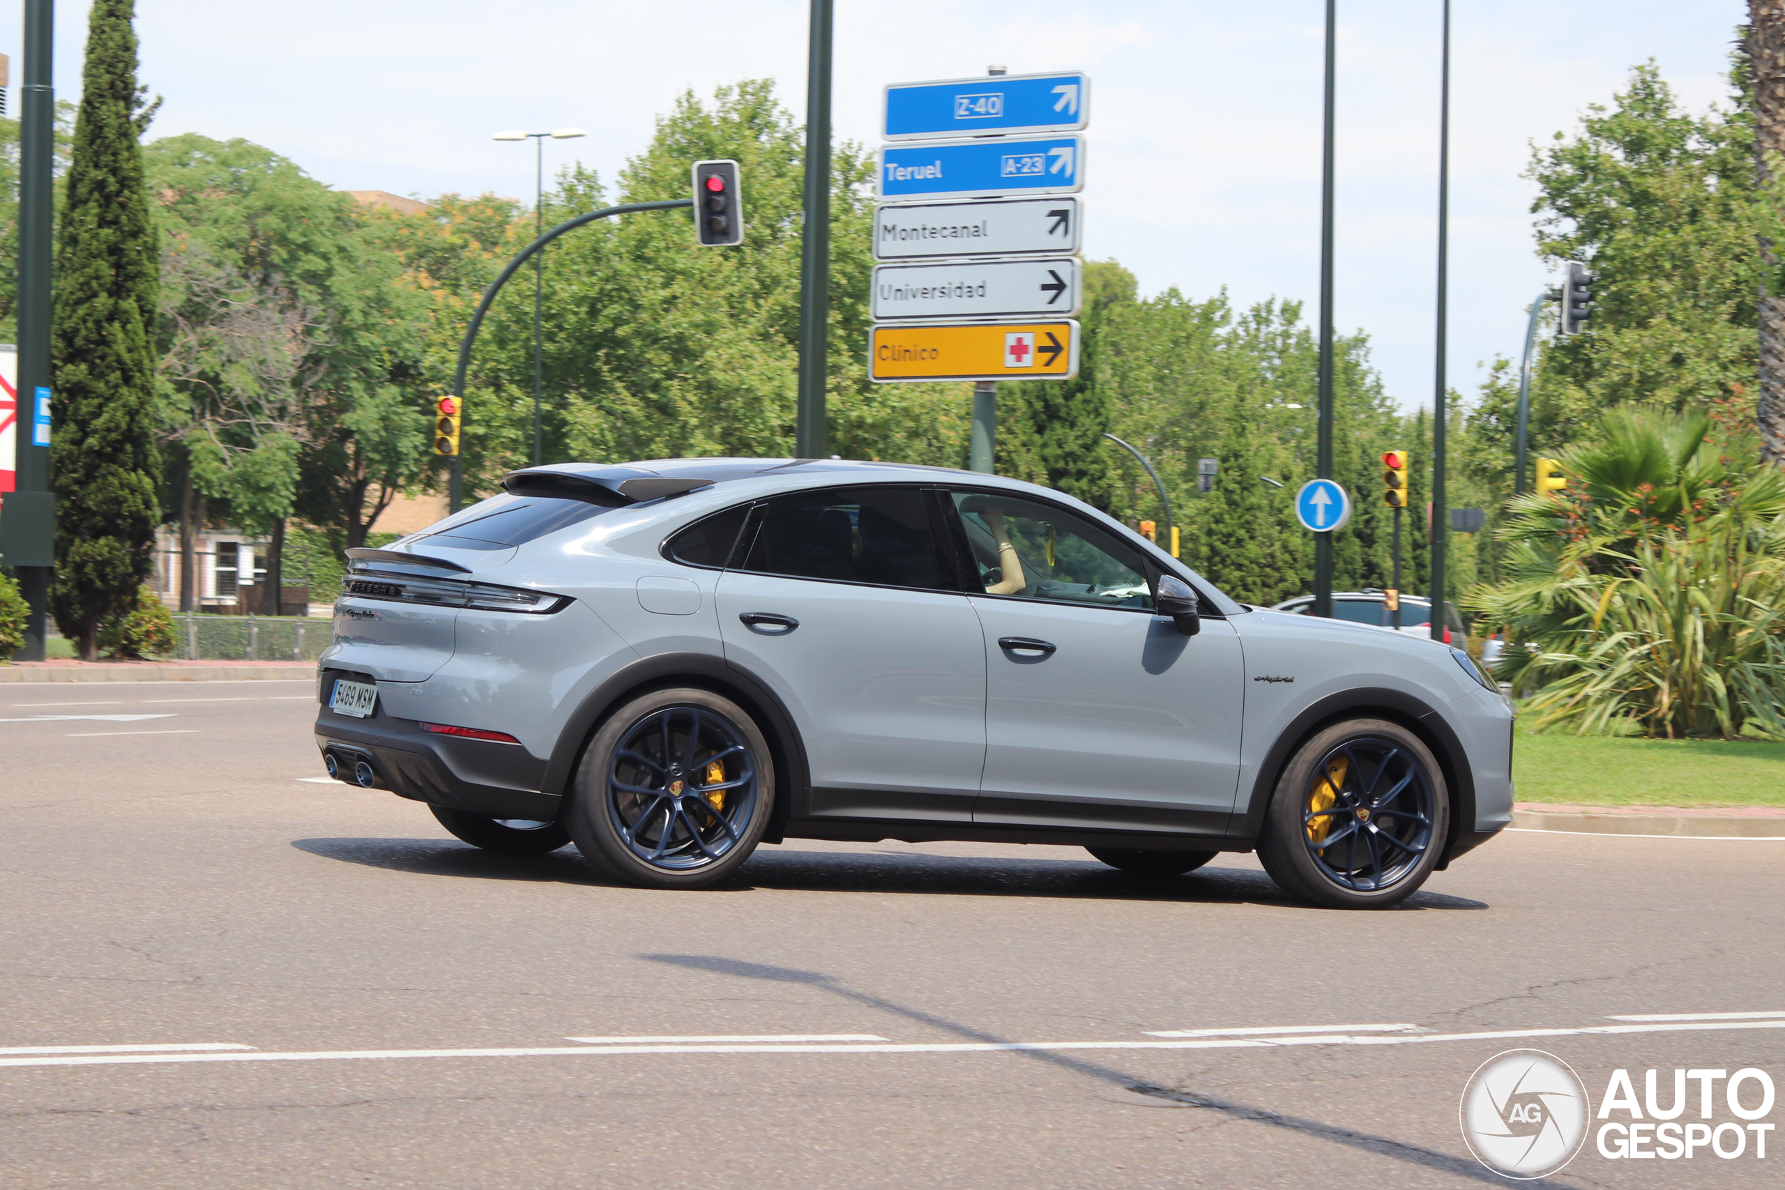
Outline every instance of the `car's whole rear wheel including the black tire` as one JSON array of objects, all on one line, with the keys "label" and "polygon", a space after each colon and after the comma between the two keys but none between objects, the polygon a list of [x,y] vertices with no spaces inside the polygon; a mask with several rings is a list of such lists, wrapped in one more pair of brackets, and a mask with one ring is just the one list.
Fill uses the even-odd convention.
[{"label": "car's whole rear wheel including the black tire", "polygon": [[616,880],[707,888],[750,858],[773,801],[768,740],[737,703],[655,690],[589,740],[564,821],[584,858]]}]

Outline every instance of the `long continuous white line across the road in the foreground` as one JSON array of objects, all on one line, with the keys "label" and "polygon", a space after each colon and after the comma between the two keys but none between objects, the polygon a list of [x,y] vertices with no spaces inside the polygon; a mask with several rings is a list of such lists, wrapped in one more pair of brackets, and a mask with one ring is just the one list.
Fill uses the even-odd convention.
[{"label": "long continuous white line across the road in the foreground", "polygon": [[0,1067],[91,1067],[168,1062],[353,1062],[389,1058],[575,1058],[589,1054],[969,1054],[1060,1053],[1073,1049],[1273,1049],[1285,1045],[1424,1045],[1432,1042],[1499,1042],[1524,1037],[1608,1037],[1623,1033],[1683,1033],[1701,1029],[1785,1029],[1785,1021],[1696,1024],[1596,1024],[1583,1029],[1494,1029],[1490,1033],[1389,1033],[1371,1037],[1203,1037],[1176,1042],[917,1042],[917,1044],[728,1044],[728,1045],[537,1045],[512,1049],[318,1049],[298,1053],[228,1054],[73,1054],[0,1058]]}]

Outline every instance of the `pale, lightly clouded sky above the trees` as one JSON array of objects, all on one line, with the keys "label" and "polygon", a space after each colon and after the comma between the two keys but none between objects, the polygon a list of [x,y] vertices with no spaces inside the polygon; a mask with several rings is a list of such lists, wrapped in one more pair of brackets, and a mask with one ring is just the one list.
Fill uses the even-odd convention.
[{"label": "pale, lightly clouded sky above the trees", "polygon": [[[20,5],[0,2],[20,79]],[[77,98],[86,4],[57,11],[55,82]],[[266,145],[341,189],[532,200],[530,145],[612,178],[685,89],[775,79],[803,120],[807,4],[787,0],[137,0],[150,137]],[[1440,0],[1341,0],[1333,319],[1364,332],[1389,394],[1435,393]],[[1578,127],[1655,59],[1685,107],[1726,102],[1742,0],[1455,0],[1448,382],[1473,393],[1523,346],[1551,284],[1532,239],[1530,143]],[[1142,294],[1239,305],[1319,294],[1317,0],[835,0],[839,141],[878,145],[887,82],[1085,70],[1085,255]],[[5,32],[9,30],[9,32]],[[12,109],[16,111],[16,107]],[[748,178],[746,178],[748,184]]]}]

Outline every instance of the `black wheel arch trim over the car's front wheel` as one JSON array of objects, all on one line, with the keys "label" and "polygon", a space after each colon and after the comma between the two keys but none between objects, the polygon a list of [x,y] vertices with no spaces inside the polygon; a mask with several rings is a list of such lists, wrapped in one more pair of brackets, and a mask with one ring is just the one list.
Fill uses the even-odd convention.
[{"label": "black wheel arch trim over the car's front wheel", "polygon": [[[1276,742],[1271,744],[1264,764],[1258,765],[1251,794],[1244,808],[1235,812],[1230,833],[1244,835],[1246,839],[1258,839],[1264,833],[1264,812],[1271,805],[1276,783],[1282,780],[1289,758],[1316,731],[1342,719],[1387,719],[1389,723],[1398,723],[1432,749],[1439,769],[1444,773],[1444,787],[1449,790],[1451,799],[1449,830],[1444,835],[1444,853],[1439,856],[1437,865],[1437,871],[1442,871],[1451,860],[1458,833],[1474,831],[1474,774],[1469,769],[1469,755],[1435,707],[1412,694],[1383,687],[1328,694],[1296,715],[1276,737]],[[1467,831],[1464,831],[1464,822],[1469,824]]]}]

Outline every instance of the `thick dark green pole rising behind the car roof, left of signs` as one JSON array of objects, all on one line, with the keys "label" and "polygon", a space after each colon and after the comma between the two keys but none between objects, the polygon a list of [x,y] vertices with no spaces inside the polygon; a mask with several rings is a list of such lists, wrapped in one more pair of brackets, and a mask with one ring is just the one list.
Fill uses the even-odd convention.
[{"label": "thick dark green pole rising behind the car roof, left of signs", "polygon": [[800,246],[800,405],[793,453],[823,459],[830,330],[830,30],[832,0],[812,0],[805,73],[805,227]]}]

